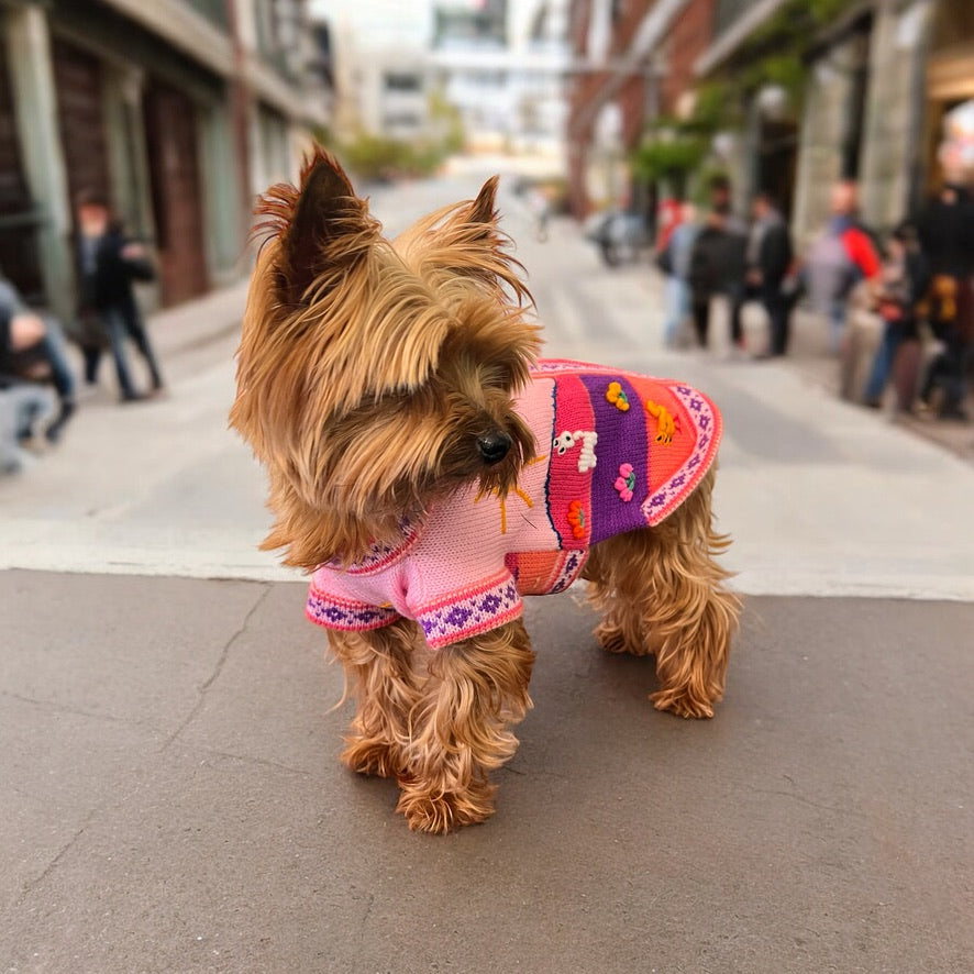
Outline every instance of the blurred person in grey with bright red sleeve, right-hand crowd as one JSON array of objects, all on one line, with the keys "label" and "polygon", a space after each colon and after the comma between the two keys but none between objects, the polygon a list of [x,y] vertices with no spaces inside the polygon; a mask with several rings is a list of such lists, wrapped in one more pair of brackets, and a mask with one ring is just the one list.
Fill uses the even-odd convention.
[{"label": "blurred person in grey with bright red sleeve, right-hand crowd", "polygon": [[879,274],[879,252],[859,219],[859,190],[851,179],[832,187],[831,215],[805,255],[803,278],[812,303],[829,319],[830,347],[842,348],[848,299],[861,280]]}]

